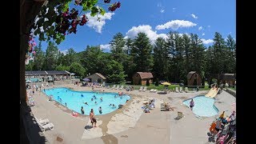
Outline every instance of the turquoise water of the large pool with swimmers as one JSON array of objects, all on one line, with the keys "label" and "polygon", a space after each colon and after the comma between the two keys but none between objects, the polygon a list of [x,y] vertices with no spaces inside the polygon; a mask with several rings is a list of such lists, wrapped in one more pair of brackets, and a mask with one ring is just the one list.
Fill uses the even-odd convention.
[{"label": "turquoise water of the large pool with swimmers", "polygon": [[[81,114],[81,107],[85,111],[86,115],[90,114],[90,109],[94,109],[94,114],[98,115],[99,106],[102,106],[102,114],[108,114],[114,110],[118,109],[118,105],[124,105],[126,100],[130,99],[129,95],[122,95],[122,98],[119,97],[118,93],[96,93],[90,91],[74,91],[67,88],[54,88],[46,90],[46,95],[53,95],[54,100],[56,102],[60,102],[59,98],[62,98],[62,104],[70,109]],[[83,95],[83,96],[82,96]],[[96,96],[96,99],[93,96]],[[117,98],[114,96],[117,95]],[[91,101],[93,98],[93,101]],[[102,101],[100,100],[102,98]],[[95,104],[94,102],[97,102]],[[88,105],[84,104],[87,102]],[[110,104],[114,104],[116,107],[109,106]]]}]

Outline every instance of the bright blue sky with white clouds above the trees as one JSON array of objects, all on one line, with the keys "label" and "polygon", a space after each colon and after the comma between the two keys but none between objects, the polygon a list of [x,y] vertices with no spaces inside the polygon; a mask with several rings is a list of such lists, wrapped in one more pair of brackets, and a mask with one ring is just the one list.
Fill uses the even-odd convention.
[{"label": "bright blue sky with white clouds above the trees", "polygon": [[[103,0],[98,0],[103,3]],[[111,3],[117,2],[111,0]],[[102,16],[102,21],[89,18],[86,26],[78,26],[77,34],[69,34],[58,45],[59,50],[74,48],[76,52],[86,46],[100,46],[110,51],[109,42],[121,32],[134,38],[145,32],[153,43],[158,37],[166,38],[170,30],[180,34],[194,33],[206,46],[212,44],[214,33],[223,38],[231,34],[236,38],[236,1],[234,0],[120,0],[121,8]],[[99,5],[100,6],[100,5]],[[105,7],[106,8],[106,7]],[[107,8],[106,8],[107,10]],[[38,40],[36,38],[38,43]],[[47,42],[42,42],[46,50]]]}]

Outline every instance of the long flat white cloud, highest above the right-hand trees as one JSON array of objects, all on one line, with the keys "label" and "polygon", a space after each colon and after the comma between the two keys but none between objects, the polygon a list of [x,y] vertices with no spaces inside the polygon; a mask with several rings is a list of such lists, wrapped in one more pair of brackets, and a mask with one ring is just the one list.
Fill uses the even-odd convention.
[{"label": "long flat white cloud, highest above the right-hand trees", "polygon": [[156,26],[156,30],[164,30],[164,29],[173,29],[178,30],[178,28],[182,27],[191,27],[191,26],[197,26],[197,24],[190,22],[190,21],[184,21],[184,20],[173,20],[170,22],[166,22],[163,25]]}]

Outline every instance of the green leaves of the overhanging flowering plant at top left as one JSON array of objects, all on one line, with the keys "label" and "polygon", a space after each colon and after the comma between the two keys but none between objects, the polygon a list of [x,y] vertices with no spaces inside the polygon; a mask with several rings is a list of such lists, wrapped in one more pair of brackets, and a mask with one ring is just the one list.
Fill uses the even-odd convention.
[{"label": "green leaves of the overhanging flowering plant at top left", "polygon": [[[98,14],[104,15],[106,10],[98,6],[97,2],[98,0],[82,0],[82,6],[75,6],[75,9],[77,7],[82,8],[77,18],[80,18],[82,14],[89,11],[90,15],[93,17],[98,17]],[[74,5],[74,1],[72,0],[54,0],[46,2],[38,14],[38,21],[32,24],[31,28],[34,29],[34,35],[38,35],[40,41],[53,40],[57,44],[65,40],[65,34],[58,30],[58,17],[69,10],[71,5]],[[98,21],[100,21],[100,18],[98,18]],[[42,31],[40,27],[43,28]]]}]

